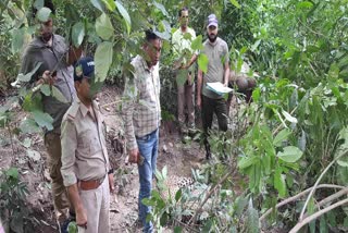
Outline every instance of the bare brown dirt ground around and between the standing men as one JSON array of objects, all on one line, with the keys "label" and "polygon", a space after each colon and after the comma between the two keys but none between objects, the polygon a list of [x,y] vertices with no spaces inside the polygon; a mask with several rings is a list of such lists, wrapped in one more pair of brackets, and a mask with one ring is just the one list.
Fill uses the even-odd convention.
[{"label": "bare brown dirt ground around and between the standing men", "polygon": [[[137,196],[139,189],[137,167],[127,163],[127,155],[123,145],[123,122],[120,115],[120,89],[107,86],[99,95],[100,106],[105,118],[108,132],[108,151],[110,160],[115,168],[116,191],[111,197],[111,232],[139,232],[134,228],[137,219]],[[0,107],[9,102],[10,98],[2,98]],[[13,106],[16,112],[12,126],[17,126],[27,113],[18,106]],[[54,221],[53,206],[50,194],[50,177],[47,168],[47,154],[41,134],[20,136],[12,135],[7,130],[0,130],[0,171],[10,167],[20,170],[21,179],[27,183],[29,195],[27,205],[29,209],[29,226],[34,232],[58,232]],[[25,139],[29,138],[32,145],[26,148]],[[35,150],[36,156],[28,156],[27,149]],[[199,168],[204,161],[204,152],[200,146],[192,142],[183,144],[174,125],[169,133],[160,130],[160,146],[158,169],[167,167],[169,175],[190,176],[191,168]],[[29,228],[28,228],[29,229]],[[27,230],[28,230],[27,229]],[[171,230],[165,230],[171,232]],[[26,231],[33,232],[33,231]]]}]

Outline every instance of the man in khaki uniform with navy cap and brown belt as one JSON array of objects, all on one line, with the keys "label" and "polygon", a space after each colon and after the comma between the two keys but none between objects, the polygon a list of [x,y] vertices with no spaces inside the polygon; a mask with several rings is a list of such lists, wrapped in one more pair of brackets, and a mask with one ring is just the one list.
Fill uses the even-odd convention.
[{"label": "man in khaki uniform with navy cap and brown belt", "polygon": [[74,69],[76,100],[62,121],[62,176],[76,212],[78,232],[108,233],[110,169],[101,112],[94,100],[91,85],[95,62],[80,59]]}]

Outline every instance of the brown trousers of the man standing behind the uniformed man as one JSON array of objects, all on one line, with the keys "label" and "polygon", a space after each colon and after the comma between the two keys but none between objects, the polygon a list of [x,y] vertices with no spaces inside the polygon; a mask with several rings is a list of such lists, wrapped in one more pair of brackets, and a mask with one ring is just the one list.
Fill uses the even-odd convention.
[{"label": "brown trousers of the man standing behind the uniformed man", "polygon": [[62,168],[62,148],[60,134],[47,133],[45,135],[45,146],[48,151],[48,162],[51,176],[51,189],[53,206],[57,211],[67,217],[67,210],[70,207],[66,188],[63,184],[63,177],[61,174]]}]

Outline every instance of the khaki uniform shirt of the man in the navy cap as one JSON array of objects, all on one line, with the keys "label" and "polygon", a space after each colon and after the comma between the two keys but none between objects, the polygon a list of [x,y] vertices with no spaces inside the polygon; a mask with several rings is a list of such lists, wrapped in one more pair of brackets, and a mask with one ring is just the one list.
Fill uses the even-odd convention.
[{"label": "khaki uniform shirt of the man in the navy cap", "polygon": [[61,144],[61,172],[65,186],[77,181],[98,180],[108,173],[104,125],[96,101],[88,109],[76,98],[63,118]]}]

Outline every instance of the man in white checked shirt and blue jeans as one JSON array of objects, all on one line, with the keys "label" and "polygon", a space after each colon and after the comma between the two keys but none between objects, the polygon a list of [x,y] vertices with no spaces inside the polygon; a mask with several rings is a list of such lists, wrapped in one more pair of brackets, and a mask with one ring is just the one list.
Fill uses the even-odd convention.
[{"label": "man in white checked shirt and blue jeans", "polygon": [[152,223],[146,222],[146,216],[151,208],[141,204],[141,200],[150,197],[158,156],[161,119],[159,77],[161,49],[162,40],[154,33],[146,32],[142,45],[145,53],[134,58],[130,62],[134,68],[132,75],[125,75],[123,107],[125,135],[129,162],[138,164],[140,182],[138,217],[144,232],[153,231]]}]

